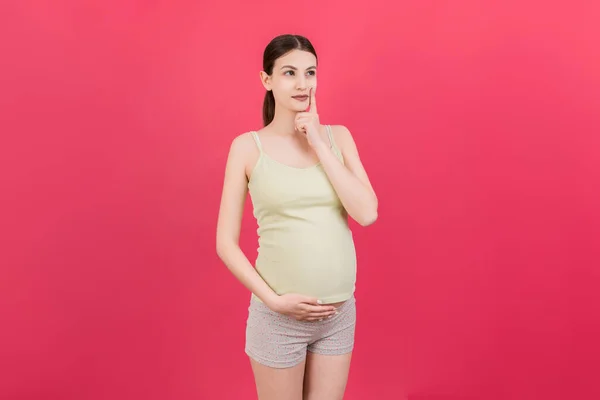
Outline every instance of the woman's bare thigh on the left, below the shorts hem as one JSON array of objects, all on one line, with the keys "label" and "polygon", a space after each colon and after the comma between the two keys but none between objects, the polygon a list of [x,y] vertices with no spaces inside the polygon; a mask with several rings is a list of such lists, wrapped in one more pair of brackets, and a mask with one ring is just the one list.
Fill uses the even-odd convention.
[{"label": "woman's bare thigh on the left, below the shorts hem", "polygon": [[302,400],[306,360],[291,368],[271,368],[250,358],[259,400]]}]

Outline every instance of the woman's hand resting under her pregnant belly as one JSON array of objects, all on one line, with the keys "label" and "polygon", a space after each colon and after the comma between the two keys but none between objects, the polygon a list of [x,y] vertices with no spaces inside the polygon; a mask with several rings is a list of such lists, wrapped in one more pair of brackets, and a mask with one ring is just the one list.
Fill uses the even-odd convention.
[{"label": "woman's hand resting under her pregnant belly", "polygon": [[315,298],[293,293],[278,296],[268,306],[271,310],[298,321],[320,321],[336,314],[334,306],[320,305]]}]

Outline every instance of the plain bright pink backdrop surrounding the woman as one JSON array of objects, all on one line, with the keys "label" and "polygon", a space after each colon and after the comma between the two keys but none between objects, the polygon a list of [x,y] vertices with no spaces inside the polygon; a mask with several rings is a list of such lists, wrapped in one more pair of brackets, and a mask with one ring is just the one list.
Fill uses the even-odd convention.
[{"label": "plain bright pink backdrop surrounding the woman", "polygon": [[215,223],[300,33],[380,198],[346,399],[600,398],[600,8],[550,3],[3,1],[0,397],[255,398]]}]

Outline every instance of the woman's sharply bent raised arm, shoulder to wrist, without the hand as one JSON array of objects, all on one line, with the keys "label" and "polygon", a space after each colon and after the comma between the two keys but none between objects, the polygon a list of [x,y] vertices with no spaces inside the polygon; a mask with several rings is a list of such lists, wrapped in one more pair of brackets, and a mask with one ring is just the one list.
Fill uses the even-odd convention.
[{"label": "woman's sharply bent raised arm, shoulder to wrist, without the hand", "polygon": [[342,152],[344,163],[324,141],[314,146],[315,152],[348,215],[362,226],[371,225],[377,220],[377,195],[360,160],[352,134],[341,125],[336,126],[335,131],[335,142]]}]

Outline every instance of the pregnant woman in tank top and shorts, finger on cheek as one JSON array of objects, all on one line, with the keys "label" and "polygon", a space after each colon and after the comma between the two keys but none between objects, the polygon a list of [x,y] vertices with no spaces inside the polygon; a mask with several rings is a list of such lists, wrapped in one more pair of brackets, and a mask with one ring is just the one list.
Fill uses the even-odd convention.
[{"label": "pregnant woman in tank top and shorts, finger on cheek", "polygon": [[[319,121],[308,39],[274,38],[261,82],[264,127],[231,144],[217,252],[252,292],[246,354],[259,399],[342,399],[356,327],[348,216],[372,224],[377,197],[349,130]],[[259,235],[254,267],[239,247],[248,193]]]}]

